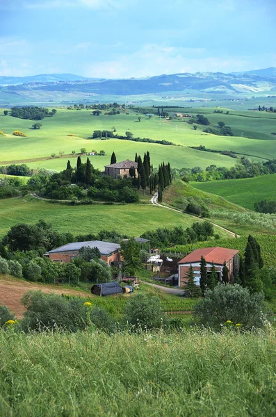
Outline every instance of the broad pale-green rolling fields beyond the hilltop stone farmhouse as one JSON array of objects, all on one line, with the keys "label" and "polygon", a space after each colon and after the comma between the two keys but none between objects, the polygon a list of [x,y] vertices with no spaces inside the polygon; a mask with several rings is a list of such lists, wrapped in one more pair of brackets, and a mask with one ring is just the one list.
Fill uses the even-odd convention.
[{"label": "broad pale-green rolling fields beyond the hilltop stone farmhouse", "polygon": [[[183,110],[182,110],[183,111]],[[259,112],[238,112],[230,111],[229,115],[213,113],[213,108],[188,109],[189,113],[204,113],[209,117],[214,126],[218,121],[226,120],[229,126],[236,129],[235,133],[241,136],[240,126],[243,132],[254,131],[252,138],[214,136],[202,132],[204,126],[199,126],[197,131],[193,126],[181,120],[160,120],[159,117],[148,119],[141,115],[138,122],[138,113],[128,111],[120,115],[106,116],[104,112],[100,116],[92,116],[90,110],[68,111],[58,109],[54,117],[47,117],[42,120],[42,128],[31,129],[33,121],[22,120],[15,117],[0,115],[0,130],[6,136],[0,137],[0,162],[5,161],[28,161],[32,158],[51,157],[51,154],[58,156],[59,152],[71,154],[72,151],[80,152],[85,147],[88,152],[95,149],[97,152],[103,149],[106,156],[91,157],[92,164],[102,169],[109,163],[110,156],[115,151],[117,160],[133,158],[136,152],[144,154],[147,150],[152,155],[152,162],[156,165],[160,161],[170,161],[172,167],[194,167],[207,165],[230,167],[236,160],[229,156],[200,152],[195,149],[188,149],[188,146],[205,145],[211,149],[232,150],[241,154],[252,155],[252,158],[276,158],[276,148],[271,132],[275,131],[275,115]],[[184,112],[184,111],[183,111]],[[0,110],[0,114],[2,111]],[[248,115],[250,117],[248,117]],[[232,122],[233,123],[232,123]],[[131,142],[127,140],[88,140],[92,132],[98,129],[111,130],[115,126],[118,134],[124,134],[129,130],[134,136],[140,138],[152,138],[154,140],[169,140],[179,147],[169,145],[157,145],[143,142]],[[236,127],[235,127],[236,126]],[[19,129],[26,133],[27,138],[13,136],[13,131]],[[76,136],[67,136],[73,134]],[[263,136],[265,134],[265,136]],[[245,134],[243,134],[245,136]],[[62,158],[49,159],[47,161],[33,161],[28,163],[33,168],[49,167],[61,170],[64,167]]]}]

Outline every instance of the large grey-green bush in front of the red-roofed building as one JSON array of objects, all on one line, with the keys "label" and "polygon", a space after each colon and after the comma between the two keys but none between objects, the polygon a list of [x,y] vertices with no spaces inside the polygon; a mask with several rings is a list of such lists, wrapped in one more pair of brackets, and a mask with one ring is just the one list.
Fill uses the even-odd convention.
[{"label": "large grey-green bush in front of the red-roofed building", "polygon": [[243,329],[260,328],[268,319],[263,294],[252,293],[238,284],[218,284],[206,291],[195,306],[194,317],[199,325],[220,330],[228,320]]}]

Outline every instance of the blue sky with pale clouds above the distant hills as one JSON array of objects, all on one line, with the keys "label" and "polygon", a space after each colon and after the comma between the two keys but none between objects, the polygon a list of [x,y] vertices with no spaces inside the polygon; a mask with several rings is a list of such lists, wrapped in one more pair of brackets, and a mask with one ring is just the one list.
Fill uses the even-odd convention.
[{"label": "blue sky with pale clouds above the distant hills", "polygon": [[0,0],[0,75],[276,67],[276,0]]}]

